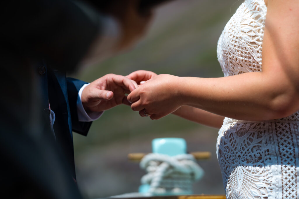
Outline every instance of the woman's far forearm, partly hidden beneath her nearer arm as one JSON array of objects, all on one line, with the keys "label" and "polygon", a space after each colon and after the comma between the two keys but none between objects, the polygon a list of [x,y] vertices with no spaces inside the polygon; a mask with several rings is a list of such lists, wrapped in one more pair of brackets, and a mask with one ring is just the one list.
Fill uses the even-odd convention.
[{"label": "woman's far forearm, partly hidden beneath her nearer arm", "polygon": [[217,129],[221,128],[224,119],[223,116],[190,106],[182,106],[173,112],[173,114]]}]

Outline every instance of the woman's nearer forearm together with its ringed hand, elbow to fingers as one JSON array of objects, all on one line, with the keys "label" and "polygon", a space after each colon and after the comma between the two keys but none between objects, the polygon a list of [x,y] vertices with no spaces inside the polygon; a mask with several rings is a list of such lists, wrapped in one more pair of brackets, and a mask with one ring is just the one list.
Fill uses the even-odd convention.
[{"label": "woman's nearer forearm together with its ringed hand, elbow to fingers", "polygon": [[298,111],[299,84],[295,80],[278,69],[223,78],[162,74],[132,91],[127,99],[133,102],[133,110],[144,109],[151,119],[187,105],[229,118],[263,121]]}]

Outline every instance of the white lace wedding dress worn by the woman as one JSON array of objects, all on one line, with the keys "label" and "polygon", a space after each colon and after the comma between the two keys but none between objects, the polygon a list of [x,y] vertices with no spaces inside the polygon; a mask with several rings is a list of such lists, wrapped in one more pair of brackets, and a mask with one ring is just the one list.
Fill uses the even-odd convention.
[{"label": "white lace wedding dress worn by the woman", "polygon": [[[245,0],[225,26],[217,57],[225,76],[262,71],[267,7]],[[227,198],[297,198],[299,112],[255,122],[225,118],[217,157]]]}]

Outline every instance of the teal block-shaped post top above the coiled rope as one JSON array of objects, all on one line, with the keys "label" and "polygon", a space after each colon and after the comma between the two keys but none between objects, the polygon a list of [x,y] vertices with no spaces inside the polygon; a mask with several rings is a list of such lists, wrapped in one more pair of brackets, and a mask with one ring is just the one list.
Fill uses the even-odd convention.
[{"label": "teal block-shaped post top above the coiled rope", "polygon": [[152,152],[169,156],[187,153],[187,144],[183,138],[155,138],[152,140]]}]

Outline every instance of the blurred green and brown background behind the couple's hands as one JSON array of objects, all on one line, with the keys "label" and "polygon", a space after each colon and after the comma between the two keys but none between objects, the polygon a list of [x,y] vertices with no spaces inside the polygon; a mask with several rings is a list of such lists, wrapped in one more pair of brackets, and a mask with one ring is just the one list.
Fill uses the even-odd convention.
[{"label": "blurred green and brown background behind the couple's hands", "polygon": [[[242,1],[176,0],[155,10],[145,38],[133,49],[100,64],[83,68],[75,78],[91,82],[108,73],[128,75],[135,70],[177,76],[221,77],[216,57],[218,38]],[[167,92],[167,90],[165,90]],[[107,110],[94,121],[88,136],[74,133],[77,182],[85,198],[101,198],[137,192],[145,174],[129,162],[131,152],[151,152],[151,141],[161,137],[186,139],[189,151],[210,151],[199,161],[204,178],[194,183],[195,194],[224,194],[216,158],[218,129],[175,115],[152,121],[130,107]]]}]

